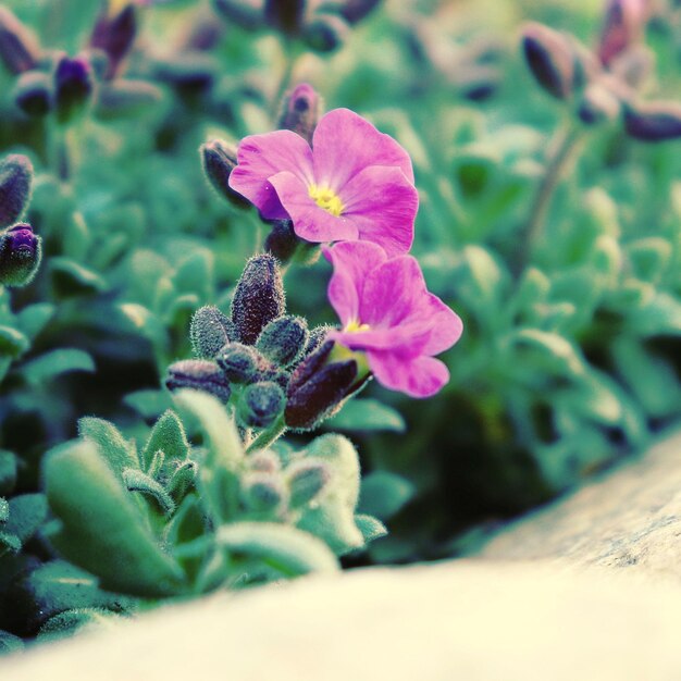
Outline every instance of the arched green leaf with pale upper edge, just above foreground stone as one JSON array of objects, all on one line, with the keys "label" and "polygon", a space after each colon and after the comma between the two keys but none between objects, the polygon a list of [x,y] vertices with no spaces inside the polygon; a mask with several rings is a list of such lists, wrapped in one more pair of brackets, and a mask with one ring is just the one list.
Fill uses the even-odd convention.
[{"label": "arched green leaf with pale upper edge, just above foreground stone", "polygon": [[323,542],[289,525],[236,522],[219,528],[215,541],[230,554],[258,558],[286,577],[338,570]]}]

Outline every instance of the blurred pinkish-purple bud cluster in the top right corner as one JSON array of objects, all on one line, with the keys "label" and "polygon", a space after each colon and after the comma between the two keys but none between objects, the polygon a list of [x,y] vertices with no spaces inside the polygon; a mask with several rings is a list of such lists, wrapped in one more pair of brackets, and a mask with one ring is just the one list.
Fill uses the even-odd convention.
[{"label": "blurred pinkish-purple bud cluster in the top right corner", "polygon": [[643,45],[648,11],[643,0],[611,0],[594,50],[574,36],[528,24],[522,49],[538,85],[569,106],[585,125],[618,121],[641,141],[681,137],[681,102],[643,102],[653,58]]}]

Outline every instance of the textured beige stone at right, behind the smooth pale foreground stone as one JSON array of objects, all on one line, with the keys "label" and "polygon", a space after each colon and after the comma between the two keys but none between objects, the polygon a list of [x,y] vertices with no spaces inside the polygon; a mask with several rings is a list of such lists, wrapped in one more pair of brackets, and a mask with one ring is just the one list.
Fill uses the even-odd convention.
[{"label": "textured beige stone at right, behind the smooth pale foreground stone", "polygon": [[644,458],[511,524],[479,555],[626,568],[681,584],[681,432]]}]

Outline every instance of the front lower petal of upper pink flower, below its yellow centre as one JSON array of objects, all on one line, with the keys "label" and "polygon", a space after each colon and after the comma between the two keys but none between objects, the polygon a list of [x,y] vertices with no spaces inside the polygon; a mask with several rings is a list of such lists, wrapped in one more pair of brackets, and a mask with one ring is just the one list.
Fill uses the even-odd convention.
[{"label": "front lower petal of upper pink flower, below its yellow centre", "polygon": [[310,197],[307,184],[294,173],[277,173],[270,177],[270,183],[300,238],[315,244],[357,238],[357,227],[344,216],[320,208]]}]

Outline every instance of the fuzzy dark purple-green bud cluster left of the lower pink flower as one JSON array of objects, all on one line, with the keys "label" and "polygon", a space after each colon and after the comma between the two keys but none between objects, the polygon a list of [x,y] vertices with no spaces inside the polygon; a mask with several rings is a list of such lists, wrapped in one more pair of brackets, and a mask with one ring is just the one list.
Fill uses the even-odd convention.
[{"label": "fuzzy dark purple-green bud cluster left of the lower pink flower", "polygon": [[286,313],[278,262],[270,253],[255,256],[236,285],[230,317],[212,306],[197,310],[190,326],[197,359],[172,364],[165,384],[233,404],[244,429],[282,421],[309,430],[361,383],[355,360],[331,361],[327,331],[309,331],[305,319]]}]

